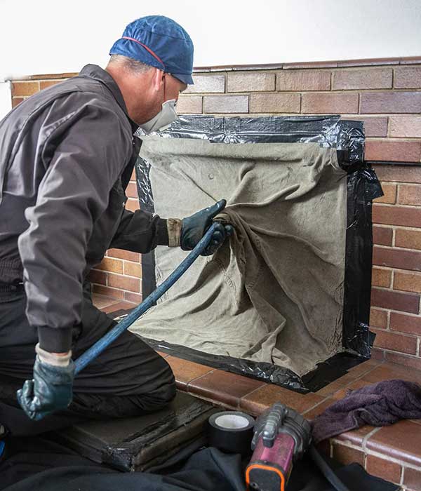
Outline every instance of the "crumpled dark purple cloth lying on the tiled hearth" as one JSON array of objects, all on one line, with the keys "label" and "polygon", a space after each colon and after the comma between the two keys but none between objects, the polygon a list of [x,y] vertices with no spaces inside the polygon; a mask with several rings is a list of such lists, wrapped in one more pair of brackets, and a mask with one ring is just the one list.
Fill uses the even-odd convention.
[{"label": "crumpled dark purple cloth lying on the tiled hearth", "polygon": [[385,380],[349,391],[330,405],[312,422],[313,440],[319,443],[364,424],[387,426],[399,419],[421,419],[421,386]]}]

